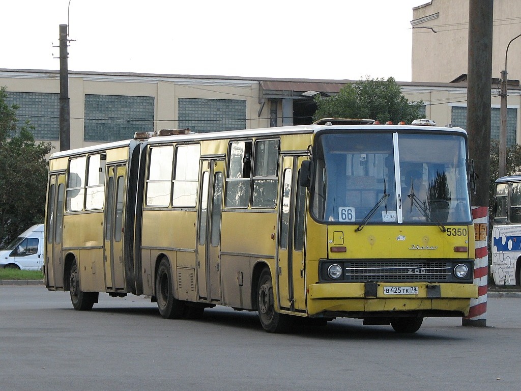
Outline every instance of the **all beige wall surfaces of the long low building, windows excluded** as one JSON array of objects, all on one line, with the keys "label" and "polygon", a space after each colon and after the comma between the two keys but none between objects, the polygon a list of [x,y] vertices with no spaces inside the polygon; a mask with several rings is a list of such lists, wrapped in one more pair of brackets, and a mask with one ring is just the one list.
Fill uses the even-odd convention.
[{"label": "all beige wall surfaces of the long low building, windows excluded", "polygon": [[[520,2],[521,3],[521,2]],[[520,38],[521,41],[521,38]],[[402,92],[410,101],[424,101],[426,118],[438,125],[451,123],[452,106],[466,106],[466,85],[464,83],[400,83]],[[13,71],[0,70],[0,85],[8,91],[18,92],[59,92],[58,74],[55,71]],[[75,74],[69,79],[70,97],[70,146],[81,148],[96,144],[83,141],[84,95],[141,95],[154,96],[154,130],[176,129],[177,101],[179,97],[209,99],[245,99],[246,128],[270,126],[271,101],[264,105],[261,115],[259,108],[259,82],[254,79],[207,79],[200,76],[175,77],[155,75],[123,74]],[[499,91],[492,88],[492,105],[499,107]],[[282,125],[282,102],[277,101],[278,124]],[[508,91],[508,107],[517,109],[517,142],[521,143],[521,90]],[[58,150],[58,140],[52,141]]]}]

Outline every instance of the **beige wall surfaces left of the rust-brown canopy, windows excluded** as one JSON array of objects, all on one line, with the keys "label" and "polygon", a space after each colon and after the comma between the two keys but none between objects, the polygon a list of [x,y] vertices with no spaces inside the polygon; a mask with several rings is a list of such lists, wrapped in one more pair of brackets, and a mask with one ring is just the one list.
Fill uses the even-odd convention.
[{"label": "beige wall surfaces left of the rust-brown canopy, windows excluded", "polygon": [[[12,92],[59,93],[59,75],[57,71],[0,70],[0,85]],[[177,129],[179,97],[245,100],[246,128],[269,127],[269,104],[258,116],[261,104],[257,80],[70,72],[71,149],[97,144],[83,140],[85,94],[153,96],[154,130]],[[59,149],[58,140],[45,141],[51,141],[54,151]]]}]

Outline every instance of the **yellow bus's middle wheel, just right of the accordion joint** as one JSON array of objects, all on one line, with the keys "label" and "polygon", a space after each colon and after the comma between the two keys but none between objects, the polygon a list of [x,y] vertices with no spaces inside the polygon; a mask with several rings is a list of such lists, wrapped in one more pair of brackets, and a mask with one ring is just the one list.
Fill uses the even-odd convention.
[{"label": "yellow bus's middle wheel, just right of the accordion joint", "polygon": [[173,297],[173,288],[170,263],[163,258],[159,263],[156,276],[157,308],[165,319],[182,319],[186,313],[186,305]]}]

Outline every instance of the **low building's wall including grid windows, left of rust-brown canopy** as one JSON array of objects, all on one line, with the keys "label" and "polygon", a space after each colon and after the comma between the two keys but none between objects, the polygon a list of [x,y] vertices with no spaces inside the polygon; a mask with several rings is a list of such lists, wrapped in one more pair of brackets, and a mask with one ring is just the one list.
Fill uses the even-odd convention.
[{"label": "low building's wall including grid windows, left of rust-brown canopy", "polygon": [[[31,120],[35,138],[57,151],[58,71],[0,70],[0,86],[20,106],[19,123]],[[252,79],[69,72],[70,148],[187,124],[203,132],[269,127],[269,105],[259,116],[258,96]]]}]

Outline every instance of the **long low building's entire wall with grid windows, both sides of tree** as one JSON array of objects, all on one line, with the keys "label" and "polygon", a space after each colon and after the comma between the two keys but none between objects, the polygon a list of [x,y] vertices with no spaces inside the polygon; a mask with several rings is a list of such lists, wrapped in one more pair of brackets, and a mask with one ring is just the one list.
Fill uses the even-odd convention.
[{"label": "long low building's entire wall with grid windows, both sides of tree", "polygon": [[[305,89],[309,85],[316,85],[316,82],[316,80],[306,82],[299,79],[301,84],[299,88]],[[408,100],[424,102],[425,118],[432,119],[441,126],[453,124],[466,127],[465,83],[399,82],[399,84]],[[23,106],[24,102],[32,102],[29,104],[33,107],[23,107],[23,112],[29,113],[28,117],[20,116],[20,120],[23,122],[26,118],[32,119],[36,125],[35,138],[50,141],[55,147],[54,151],[57,151],[59,148],[56,118],[59,115],[59,112],[56,112],[58,102],[54,106],[48,102],[59,99],[58,72],[0,70],[0,86],[7,87],[8,99],[14,99],[14,101],[11,99],[10,103]],[[16,102],[16,99],[20,99],[20,93],[24,99]],[[42,95],[45,104],[38,104],[38,99]],[[300,96],[299,93],[295,95]],[[498,88],[492,86],[491,95],[493,110],[491,133],[493,138],[497,138],[500,105]],[[113,141],[118,137],[119,139],[132,138],[133,133],[138,130],[157,131],[188,126],[192,130],[204,132],[283,125],[282,98],[271,97],[264,105],[259,103],[259,80],[256,79],[75,73],[70,75],[69,97],[71,148]],[[99,105],[89,105],[90,101]],[[134,109],[135,106],[132,105],[139,102],[142,102],[144,109],[141,109],[143,107]],[[128,103],[129,106],[125,106],[124,103]],[[262,111],[259,113],[261,107]],[[521,131],[519,131],[521,89],[512,88],[508,91],[508,108],[509,140],[521,143]],[[291,113],[288,115],[291,116]],[[273,120],[272,116],[274,116]],[[40,124],[38,121],[42,117],[48,120],[45,126],[50,127],[50,132],[49,129],[38,128]],[[287,122],[292,123],[292,118],[288,118]],[[94,125],[101,126],[101,130],[98,132],[97,129],[93,129]],[[49,133],[55,137],[49,138]],[[93,134],[96,137],[93,138]]]}]

